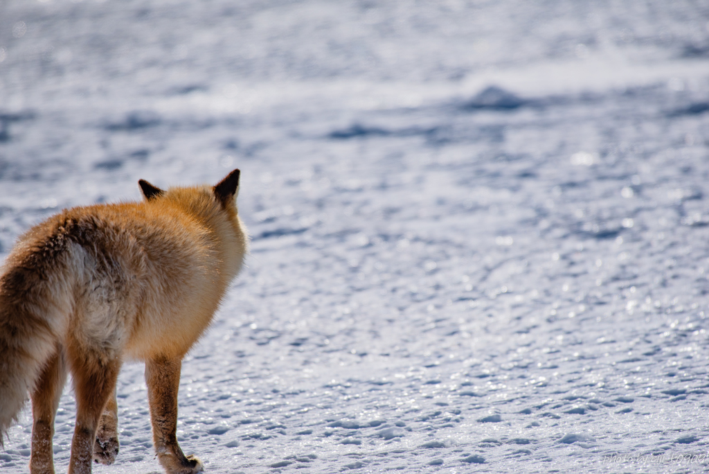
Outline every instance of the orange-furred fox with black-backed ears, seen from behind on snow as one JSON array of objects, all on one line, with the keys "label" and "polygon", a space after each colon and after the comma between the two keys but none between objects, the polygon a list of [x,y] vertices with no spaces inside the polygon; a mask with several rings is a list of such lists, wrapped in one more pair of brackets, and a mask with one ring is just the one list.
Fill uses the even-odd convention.
[{"label": "orange-furred fox with black-backed ears, seen from behind on snow", "polygon": [[203,470],[177,443],[182,358],[213,320],[248,252],[240,170],[215,186],[160,189],[140,202],[65,209],[19,239],[0,270],[0,446],[29,393],[30,473],[53,474],[52,437],[72,373],[69,474],[119,451],[116,380],[145,362],[155,453],[168,474]]}]

